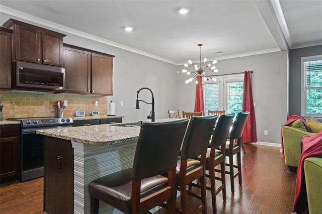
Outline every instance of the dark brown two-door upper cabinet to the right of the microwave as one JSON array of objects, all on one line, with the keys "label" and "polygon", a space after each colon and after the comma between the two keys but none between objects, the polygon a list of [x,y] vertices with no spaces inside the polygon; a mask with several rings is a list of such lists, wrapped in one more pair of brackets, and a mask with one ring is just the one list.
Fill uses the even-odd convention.
[{"label": "dark brown two-door upper cabinet to the right of the microwave", "polygon": [[113,57],[64,46],[65,92],[113,95]]}]

